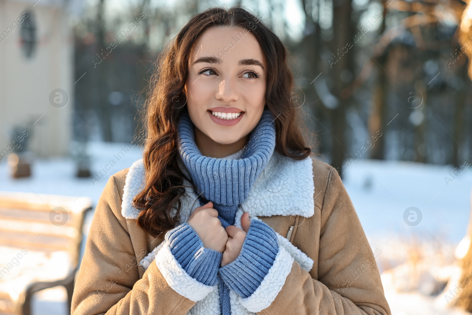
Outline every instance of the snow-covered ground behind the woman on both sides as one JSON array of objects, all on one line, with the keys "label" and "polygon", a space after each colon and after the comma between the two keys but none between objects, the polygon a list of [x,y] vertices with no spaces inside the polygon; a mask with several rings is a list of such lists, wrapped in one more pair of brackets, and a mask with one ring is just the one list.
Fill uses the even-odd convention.
[{"label": "snow-covered ground behind the woman on both sides", "polygon": [[[116,163],[97,183],[90,178],[76,178],[75,165],[70,158],[36,159],[33,175],[25,179],[10,178],[6,161],[0,162],[0,191],[87,196],[96,204],[110,175],[141,157],[142,149],[138,147],[118,160],[118,152],[126,145],[102,142],[89,145],[93,173],[109,165],[110,160]],[[391,270],[382,275],[393,315],[466,314],[447,307],[444,296],[427,295],[433,290],[431,286],[405,283],[405,277],[411,275],[402,265],[405,261],[414,261],[418,255],[421,257],[417,260],[422,262],[427,261],[425,257],[434,256],[439,258],[430,264],[431,269],[452,272],[447,266],[455,262],[455,247],[466,234],[472,187],[471,170],[452,177],[449,172],[453,170],[452,166],[359,159],[353,160],[342,174],[372,248],[381,250],[377,258],[380,271],[397,267],[396,273]],[[415,208],[408,209],[410,207]],[[90,219],[91,216],[86,220],[86,228]],[[430,274],[438,272],[424,274],[431,278]],[[425,280],[425,283],[432,282]],[[32,306],[36,314],[62,315],[67,314],[65,300],[65,291],[55,288],[37,294]]]}]

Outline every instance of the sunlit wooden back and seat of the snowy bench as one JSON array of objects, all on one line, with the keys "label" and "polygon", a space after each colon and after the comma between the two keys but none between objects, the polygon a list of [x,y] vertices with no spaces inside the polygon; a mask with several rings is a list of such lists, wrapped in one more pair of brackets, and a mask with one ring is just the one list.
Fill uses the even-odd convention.
[{"label": "sunlit wooden back and seat of the snowy bench", "polygon": [[0,314],[30,315],[35,292],[64,286],[70,304],[87,197],[0,192]]}]

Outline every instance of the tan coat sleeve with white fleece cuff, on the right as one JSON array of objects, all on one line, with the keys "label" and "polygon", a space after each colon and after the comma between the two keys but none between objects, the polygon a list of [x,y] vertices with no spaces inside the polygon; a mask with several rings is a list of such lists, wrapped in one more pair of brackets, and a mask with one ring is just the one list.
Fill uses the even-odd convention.
[{"label": "tan coat sleeve with white fleece cuff, on the right", "polygon": [[[317,235],[314,229],[306,234],[307,241]],[[261,284],[265,289],[240,299],[241,304],[261,315],[391,315],[375,262],[380,253],[372,253],[354,205],[331,168],[321,207],[318,280],[279,251],[278,271],[269,271]]]}]

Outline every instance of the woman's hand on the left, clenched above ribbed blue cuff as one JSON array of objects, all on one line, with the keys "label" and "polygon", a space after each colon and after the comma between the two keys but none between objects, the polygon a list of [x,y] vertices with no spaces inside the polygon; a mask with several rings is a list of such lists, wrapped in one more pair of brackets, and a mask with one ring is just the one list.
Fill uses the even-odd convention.
[{"label": "woman's hand on the left, clenched above ribbed blue cuff", "polygon": [[218,211],[212,207],[213,203],[209,201],[207,204],[195,208],[187,223],[197,232],[206,248],[223,253],[226,249],[228,234],[221,226]]}]

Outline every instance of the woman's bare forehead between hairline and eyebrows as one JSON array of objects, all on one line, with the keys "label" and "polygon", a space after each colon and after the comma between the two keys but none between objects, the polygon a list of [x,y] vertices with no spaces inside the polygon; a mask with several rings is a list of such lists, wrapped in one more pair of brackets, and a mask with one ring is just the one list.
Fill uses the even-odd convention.
[{"label": "woman's bare forehead between hairline and eyebrows", "polygon": [[266,67],[261,45],[247,28],[213,26],[197,39],[190,63],[202,56],[217,56],[222,64],[237,63],[241,59],[257,59]]}]

